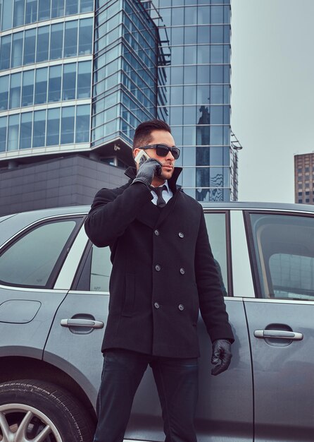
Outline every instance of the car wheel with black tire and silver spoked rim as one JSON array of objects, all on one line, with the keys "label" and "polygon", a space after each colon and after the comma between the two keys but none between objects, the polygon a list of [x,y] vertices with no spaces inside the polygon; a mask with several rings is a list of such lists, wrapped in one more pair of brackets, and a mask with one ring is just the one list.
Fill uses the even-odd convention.
[{"label": "car wheel with black tire and silver spoked rim", "polygon": [[87,411],[63,388],[34,380],[0,384],[0,441],[92,442],[93,434]]}]

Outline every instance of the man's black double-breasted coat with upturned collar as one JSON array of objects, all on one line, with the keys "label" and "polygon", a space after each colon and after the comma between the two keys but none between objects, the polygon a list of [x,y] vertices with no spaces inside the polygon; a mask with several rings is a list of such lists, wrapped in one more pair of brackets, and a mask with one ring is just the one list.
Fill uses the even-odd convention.
[{"label": "man's black double-breasted coat with upturned collar", "polygon": [[85,230],[110,246],[108,322],[102,350],[123,348],[162,357],[199,356],[199,309],[211,340],[233,340],[201,205],[168,181],[173,196],[158,208],[151,191],[129,183],[101,189]]}]

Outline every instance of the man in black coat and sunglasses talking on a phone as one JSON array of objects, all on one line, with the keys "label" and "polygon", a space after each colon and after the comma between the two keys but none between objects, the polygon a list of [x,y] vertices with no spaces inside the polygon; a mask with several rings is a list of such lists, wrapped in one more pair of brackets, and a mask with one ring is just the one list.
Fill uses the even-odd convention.
[{"label": "man in black coat and sunglasses talking on a phone", "polygon": [[94,442],[123,441],[148,365],[161,400],[165,442],[196,442],[199,308],[213,342],[212,374],[229,366],[234,338],[203,210],[175,185],[180,150],[168,124],[140,124],[134,157],[142,150],[149,159],[127,169],[124,186],[101,189],[85,222],[96,246],[110,246],[113,263]]}]

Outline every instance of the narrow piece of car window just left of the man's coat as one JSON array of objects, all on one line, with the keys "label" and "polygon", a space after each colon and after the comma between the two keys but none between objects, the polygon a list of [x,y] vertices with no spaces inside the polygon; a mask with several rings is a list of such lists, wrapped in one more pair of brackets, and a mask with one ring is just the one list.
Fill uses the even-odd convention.
[{"label": "narrow piece of car window just left of the man's coat", "polygon": [[109,247],[99,248],[93,244],[89,290],[92,292],[109,292],[111,268]]}]

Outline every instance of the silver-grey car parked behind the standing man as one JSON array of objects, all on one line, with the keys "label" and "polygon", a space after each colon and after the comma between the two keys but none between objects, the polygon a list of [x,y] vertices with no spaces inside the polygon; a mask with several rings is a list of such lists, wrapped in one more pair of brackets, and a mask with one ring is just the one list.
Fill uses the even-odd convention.
[{"label": "silver-grey car parked behind the standing man", "polygon": [[[87,239],[88,210],[0,218],[0,441],[92,441],[111,263]],[[211,376],[199,318],[198,440],[314,441],[314,206],[204,212],[235,342]],[[164,440],[150,370],[125,438]]]}]

